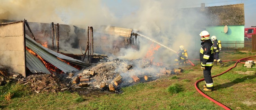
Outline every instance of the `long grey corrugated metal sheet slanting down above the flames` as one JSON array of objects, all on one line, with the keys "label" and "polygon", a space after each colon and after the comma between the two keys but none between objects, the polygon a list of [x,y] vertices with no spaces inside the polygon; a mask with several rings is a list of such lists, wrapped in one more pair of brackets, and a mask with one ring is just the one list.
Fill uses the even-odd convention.
[{"label": "long grey corrugated metal sheet slanting down above the flames", "polygon": [[56,58],[56,56],[46,51],[44,48],[42,48],[42,45],[35,42],[28,35],[26,35],[26,46],[34,51],[37,55],[41,56],[45,61],[62,70],[64,73],[78,71],[78,69],[62,62],[60,59]]}]

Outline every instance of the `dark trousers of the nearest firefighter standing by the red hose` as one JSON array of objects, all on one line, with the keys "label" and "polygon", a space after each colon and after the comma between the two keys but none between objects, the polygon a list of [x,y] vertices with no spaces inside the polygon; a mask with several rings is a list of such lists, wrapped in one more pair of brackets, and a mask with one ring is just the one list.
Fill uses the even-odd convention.
[{"label": "dark trousers of the nearest firefighter standing by the red hose", "polygon": [[204,81],[207,89],[213,89],[213,80],[211,75],[212,66],[205,66],[203,70],[204,73]]}]

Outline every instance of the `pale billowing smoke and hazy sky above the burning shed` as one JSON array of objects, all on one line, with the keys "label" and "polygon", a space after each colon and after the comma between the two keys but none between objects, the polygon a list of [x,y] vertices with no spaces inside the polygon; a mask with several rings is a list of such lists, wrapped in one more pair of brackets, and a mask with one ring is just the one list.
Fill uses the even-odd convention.
[{"label": "pale billowing smoke and hazy sky above the burning shed", "polygon": [[[200,21],[203,15],[178,10],[201,7],[201,3],[205,7],[244,3],[245,28],[256,25],[256,0],[0,0],[0,19],[133,29],[175,51],[184,45],[193,58],[198,57],[194,50],[200,48],[199,33],[205,27]],[[140,41],[139,51],[121,49],[114,58],[143,58],[151,45],[156,46],[143,37]],[[155,60],[168,62],[175,54],[159,48]]]}]

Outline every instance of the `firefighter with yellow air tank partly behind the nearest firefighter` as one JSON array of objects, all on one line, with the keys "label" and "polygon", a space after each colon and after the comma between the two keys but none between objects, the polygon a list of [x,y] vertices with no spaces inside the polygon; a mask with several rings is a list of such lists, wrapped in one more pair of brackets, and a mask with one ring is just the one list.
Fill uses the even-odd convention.
[{"label": "firefighter with yellow air tank partly behind the nearest firefighter", "polygon": [[221,42],[217,40],[216,36],[211,37],[213,42],[213,48],[214,48],[214,64],[217,65],[217,62],[220,63],[220,67],[224,66],[224,63],[219,58],[219,53],[221,51]]}]

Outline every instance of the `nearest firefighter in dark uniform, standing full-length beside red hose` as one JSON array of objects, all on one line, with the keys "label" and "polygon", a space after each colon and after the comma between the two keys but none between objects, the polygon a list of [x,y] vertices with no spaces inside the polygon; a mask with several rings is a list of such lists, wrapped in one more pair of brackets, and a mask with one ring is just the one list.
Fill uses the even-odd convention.
[{"label": "nearest firefighter in dark uniform, standing full-length beside red hose", "polygon": [[202,31],[201,36],[201,49],[200,49],[200,62],[201,69],[203,69],[205,85],[203,85],[204,91],[213,90],[213,80],[211,75],[211,69],[213,66],[214,52],[213,44],[210,39],[210,34],[207,31]]}]

